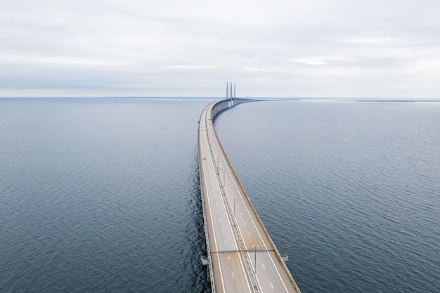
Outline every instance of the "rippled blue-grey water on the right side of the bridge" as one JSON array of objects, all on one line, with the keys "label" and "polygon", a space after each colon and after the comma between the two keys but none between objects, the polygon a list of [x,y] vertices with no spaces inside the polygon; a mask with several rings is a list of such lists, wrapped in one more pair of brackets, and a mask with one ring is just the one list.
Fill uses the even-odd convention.
[{"label": "rippled blue-grey water on the right side of the bridge", "polygon": [[303,293],[440,292],[440,103],[248,103],[216,125]]}]

